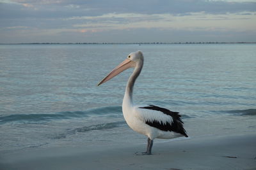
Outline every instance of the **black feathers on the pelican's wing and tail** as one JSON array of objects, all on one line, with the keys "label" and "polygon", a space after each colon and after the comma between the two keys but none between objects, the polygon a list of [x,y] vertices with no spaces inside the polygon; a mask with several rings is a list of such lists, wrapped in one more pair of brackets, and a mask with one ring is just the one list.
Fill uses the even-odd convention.
[{"label": "black feathers on the pelican's wing and tail", "polygon": [[161,131],[178,132],[178,133],[188,137],[188,135],[186,134],[186,130],[183,127],[183,122],[180,119],[181,116],[179,115],[179,112],[170,111],[166,108],[160,108],[160,107],[154,106],[154,105],[149,105],[149,106],[140,107],[140,108],[161,111],[162,113],[171,116],[173,119],[173,122],[171,124],[170,123],[163,124],[163,122],[154,120],[153,122],[146,121],[147,125],[156,127],[157,129],[160,129]]}]

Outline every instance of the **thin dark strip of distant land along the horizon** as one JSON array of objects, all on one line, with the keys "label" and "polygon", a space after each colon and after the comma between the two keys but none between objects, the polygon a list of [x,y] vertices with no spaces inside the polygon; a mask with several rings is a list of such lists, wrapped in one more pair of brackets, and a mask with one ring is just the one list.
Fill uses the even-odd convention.
[{"label": "thin dark strip of distant land along the horizon", "polygon": [[179,43],[0,43],[0,45],[179,45],[179,44],[255,44],[256,42],[179,42]]}]

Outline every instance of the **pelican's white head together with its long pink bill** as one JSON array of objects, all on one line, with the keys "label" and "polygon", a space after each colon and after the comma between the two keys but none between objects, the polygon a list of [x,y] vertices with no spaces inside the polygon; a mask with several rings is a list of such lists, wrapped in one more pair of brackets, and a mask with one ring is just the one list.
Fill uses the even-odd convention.
[{"label": "pelican's white head together with its long pink bill", "polygon": [[140,64],[143,64],[143,60],[143,53],[141,51],[130,53],[123,62],[121,62],[117,67],[115,67],[115,69],[113,69],[113,71],[108,74],[108,76],[100,81],[98,86],[110,80],[117,74],[122,73],[123,71],[125,71],[125,69],[129,69],[131,67],[136,67]]}]

